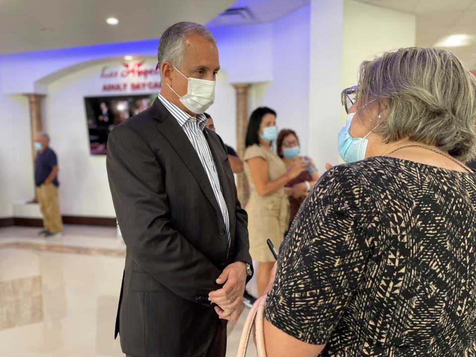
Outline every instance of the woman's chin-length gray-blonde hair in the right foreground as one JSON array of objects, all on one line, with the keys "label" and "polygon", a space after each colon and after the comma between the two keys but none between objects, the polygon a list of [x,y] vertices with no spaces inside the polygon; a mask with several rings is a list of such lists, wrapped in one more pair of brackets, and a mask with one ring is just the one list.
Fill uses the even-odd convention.
[{"label": "woman's chin-length gray-blonde hair in the right foreground", "polygon": [[463,162],[476,156],[476,78],[451,52],[412,47],[364,61],[357,109],[373,99],[387,110],[374,130],[384,141],[408,136]]}]

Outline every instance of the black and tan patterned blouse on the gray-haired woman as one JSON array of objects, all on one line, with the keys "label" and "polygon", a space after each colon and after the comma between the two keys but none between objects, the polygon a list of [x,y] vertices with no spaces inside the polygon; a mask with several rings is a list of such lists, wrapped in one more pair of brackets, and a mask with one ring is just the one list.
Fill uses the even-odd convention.
[{"label": "black and tan patterned blouse on the gray-haired woman", "polygon": [[280,248],[265,317],[320,356],[476,356],[476,173],[334,167]]}]

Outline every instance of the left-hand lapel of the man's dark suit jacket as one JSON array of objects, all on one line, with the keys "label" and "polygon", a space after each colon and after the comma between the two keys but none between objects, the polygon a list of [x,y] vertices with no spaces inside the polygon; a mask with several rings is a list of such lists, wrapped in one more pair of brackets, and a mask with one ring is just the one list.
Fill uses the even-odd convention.
[{"label": "left-hand lapel of the man's dark suit jacket", "polygon": [[169,141],[172,147],[175,149],[180,159],[185,166],[190,170],[192,176],[197,180],[205,196],[208,197],[210,203],[215,207],[218,212],[221,212],[218,205],[217,198],[213,192],[210,180],[202,166],[200,158],[197,152],[193,148],[187,135],[183,132],[177,119],[175,119],[164,107],[164,105],[156,99],[151,107],[152,117],[158,120],[157,129],[164,135]]}]

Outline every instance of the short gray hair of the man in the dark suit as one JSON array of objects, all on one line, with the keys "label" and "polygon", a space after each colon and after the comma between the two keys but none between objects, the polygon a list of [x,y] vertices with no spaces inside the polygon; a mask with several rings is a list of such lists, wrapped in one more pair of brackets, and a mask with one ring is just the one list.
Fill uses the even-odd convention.
[{"label": "short gray hair of the man in the dark suit", "polygon": [[204,26],[195,22],[178,22],[165,30],[160,38],[157,50],[159,66],[164,61],[168,61],[176,68],[180,68],[185,55],[184,40],[191,34],[199,35],[214,44],[217,43],[212,33]]}]

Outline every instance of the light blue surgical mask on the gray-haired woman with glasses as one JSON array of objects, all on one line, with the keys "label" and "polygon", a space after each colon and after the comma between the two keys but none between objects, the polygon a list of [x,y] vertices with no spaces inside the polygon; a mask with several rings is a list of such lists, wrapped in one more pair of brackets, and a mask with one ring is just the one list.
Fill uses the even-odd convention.
[{"label": "light blue surgical mask on the gray-haired woman with glasses", "polygon": [[353,138],[351,134],[349,134],[349,128],[351,127],[354,115],[355,113],[349,113],[346,124],[337,135],[339,155],[346,163],[365,159],[365,151],[368,144],[367,136],[372,132],[370,131],[363,138]]}]

